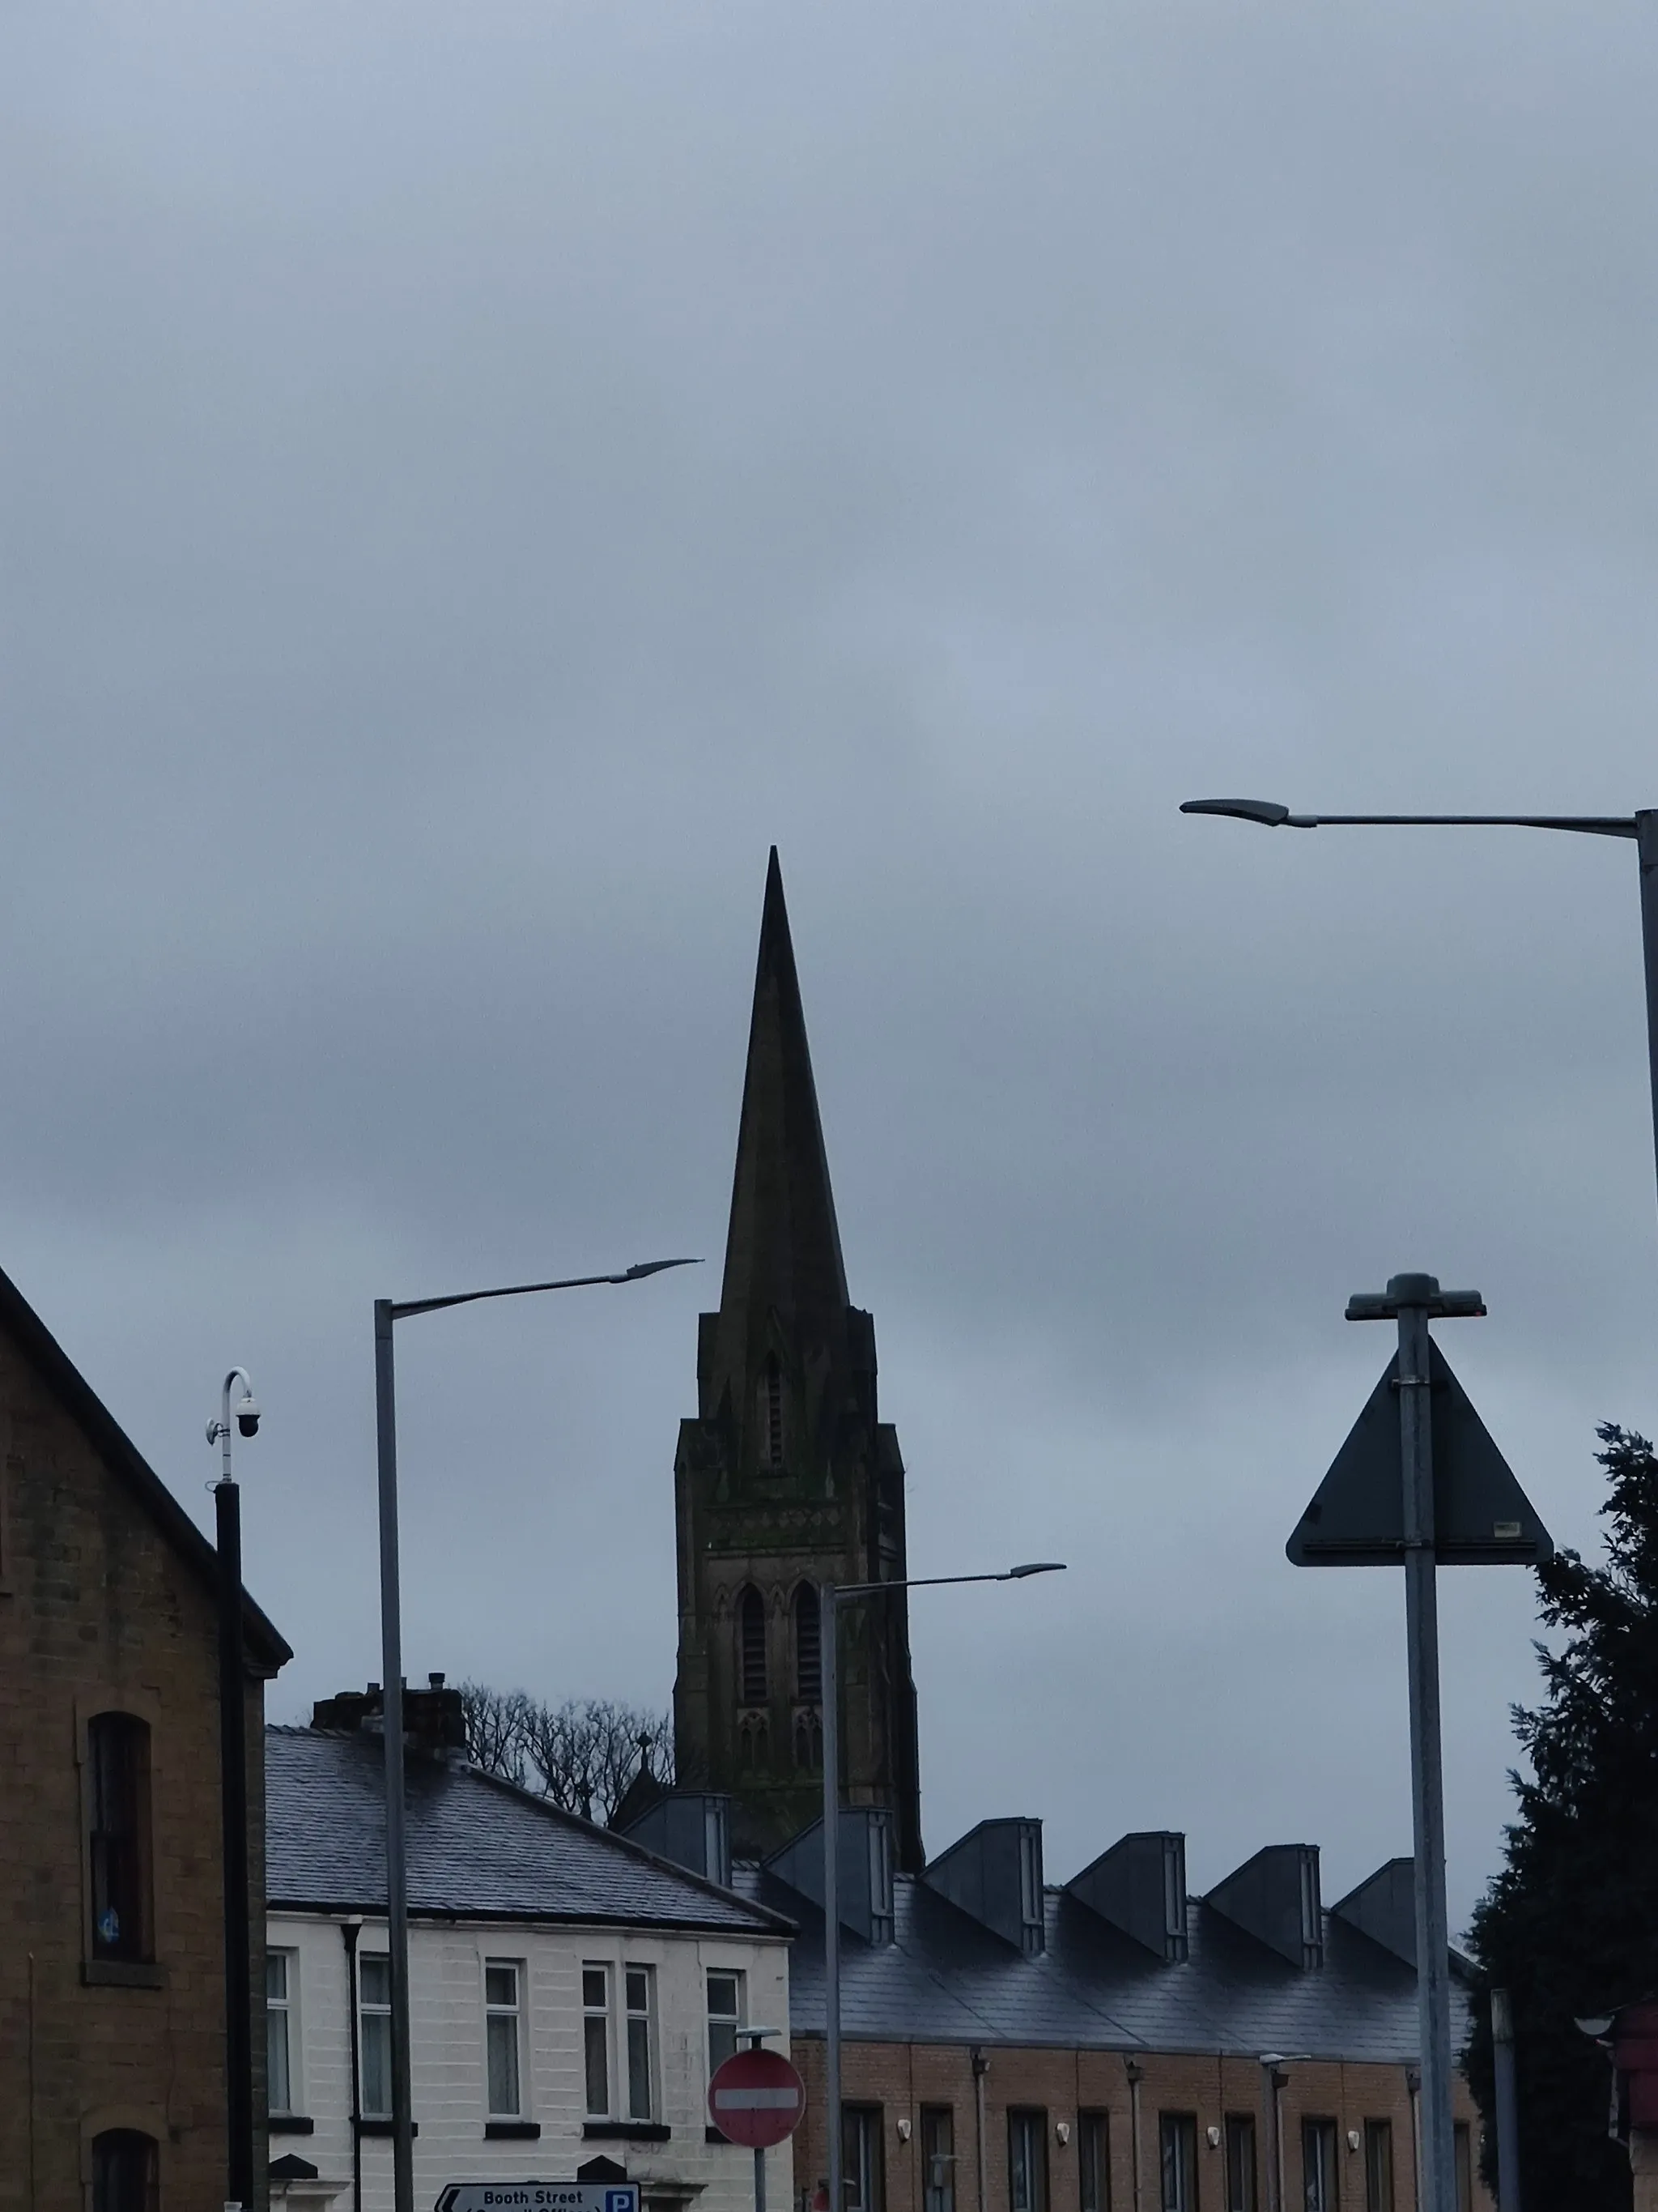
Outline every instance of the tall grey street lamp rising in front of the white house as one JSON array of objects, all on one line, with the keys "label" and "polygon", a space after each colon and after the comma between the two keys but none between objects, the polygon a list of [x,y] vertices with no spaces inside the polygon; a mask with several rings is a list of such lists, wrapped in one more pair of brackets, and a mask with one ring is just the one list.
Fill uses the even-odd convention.
[{"label": "tall grey street lamp rising in front of the white house", "polygon": [[[621,1274],[573,1274],[559,1283],[508,1283],[462,1290],[447,1298],[374,1301],[374,1429],[380,1469],[380,1666],[385,1674],[385,1885],[391,1966],[391,2203],[413,2212],[413,2108],[409,2090],[409,1860],[402,1807],[402,1599],[398,1584],[398,1407],[391,1378],[391,1325],[413,1314],[482,1298],[528,1298],[537,1290],[586,1290],[592,1283],[641,1283],[663,1267],[696,1267],[692,1259],[648,1259]],[[228,1385],[225,1385],[228,1387]],[[230,1447],[225,1447],[228,1451]]]}]

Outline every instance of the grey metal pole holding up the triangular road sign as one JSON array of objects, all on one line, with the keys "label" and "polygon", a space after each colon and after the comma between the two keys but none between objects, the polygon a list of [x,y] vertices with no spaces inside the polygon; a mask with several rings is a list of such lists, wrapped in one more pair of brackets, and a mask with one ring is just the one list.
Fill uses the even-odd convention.
[{"label": "grey metal pole holding up the triangular road sign", "polygon": [[[1410,1818],[1417,1891],[1421,2039],[1421,2212],[1457,2212],[1450,2119],[1450,1929],[1446,1924],[1446,1783],[1439,1750],[1439,1610],[1433,1551],[1433,1276],[1395,1276],[1399,1301],[1399,1455],[1404,1478],[1404,1632],[1410,1677]],[[1410,1294],[1419,1290],[1419,1298]],[[1406,1303],[1410,1301],[1410,1303]]]}]

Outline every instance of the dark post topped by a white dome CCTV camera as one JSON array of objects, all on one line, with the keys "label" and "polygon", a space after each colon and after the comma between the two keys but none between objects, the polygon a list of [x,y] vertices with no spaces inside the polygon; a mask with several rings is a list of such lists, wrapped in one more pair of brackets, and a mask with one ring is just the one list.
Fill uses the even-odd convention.
[{"label": "dark post topped by a white dome CCTV camera", "polygon": [[219,1394],[208,1442],[219,1444],[212,1484],[219,1540],[219,1814],[225,1871],[225,2208],[254,2201],[254,2053],[248,1933],[248,1683],[241,1650],[241,1493],[230,1473],[230,1387],[241,1383],[234,1429],[259,1433],[259,1405],[245,1369],[232,1367]]}]

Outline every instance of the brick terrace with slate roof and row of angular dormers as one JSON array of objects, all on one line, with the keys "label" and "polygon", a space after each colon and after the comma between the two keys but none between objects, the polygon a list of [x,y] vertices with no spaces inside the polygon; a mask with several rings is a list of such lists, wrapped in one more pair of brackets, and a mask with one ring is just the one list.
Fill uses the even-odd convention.
[{"label": "brick terrace with slate roof and row of angular dormers", "polygon": [[[1258,1851],[1207,1898],[1185,1840],[1125,1836],[1063,1889],[1037,1820],[986,1820],[922,1876],[842,1814],[847,2212],[1410,2212],[1417,1989],[1410,1863],[1333,1909],[1318,1851]],[[822,2141],[822,1847],[749,1891],[800,1922],[802,2183]],[[1457,1989],[1457,2046],[1466,2000]],[[1490,2205],[1457,2081],[1461,2212]]]}]

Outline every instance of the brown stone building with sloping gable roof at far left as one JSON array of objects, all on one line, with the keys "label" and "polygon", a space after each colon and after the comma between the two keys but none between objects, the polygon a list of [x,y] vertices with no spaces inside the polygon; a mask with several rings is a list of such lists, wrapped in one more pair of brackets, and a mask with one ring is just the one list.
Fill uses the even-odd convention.
[{"label": "brown stone building with sloping gable roof at far left", "polygon": [[[214,1573],[208,1540],[0,1274],[4,2212],[223,2203]],[[290,1652],[252,1601],[245,1644],[259,1896],[263,1683]],[[254,2070],[263,2110],[259,2033]]]}]

